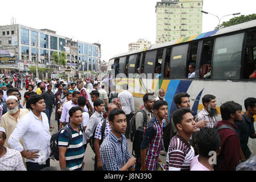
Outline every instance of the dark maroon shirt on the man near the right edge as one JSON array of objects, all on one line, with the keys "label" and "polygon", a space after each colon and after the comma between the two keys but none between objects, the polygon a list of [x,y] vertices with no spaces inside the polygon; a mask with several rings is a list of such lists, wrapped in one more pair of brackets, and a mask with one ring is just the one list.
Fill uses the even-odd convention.
[{"label": "dark maroon shirt on the man near the right edge", "polygon": [[[218,122],[216,128],[221,125],[229,125],[233,129],[237,129],[237,126],[229,121],[222,120]],[[230,129],[222,129],[218,131],[221,137],[221,152],[218,158],[221,160],[217,167],[219,171],[235,171],[240,159],[240,141],[237,133]]]}]

